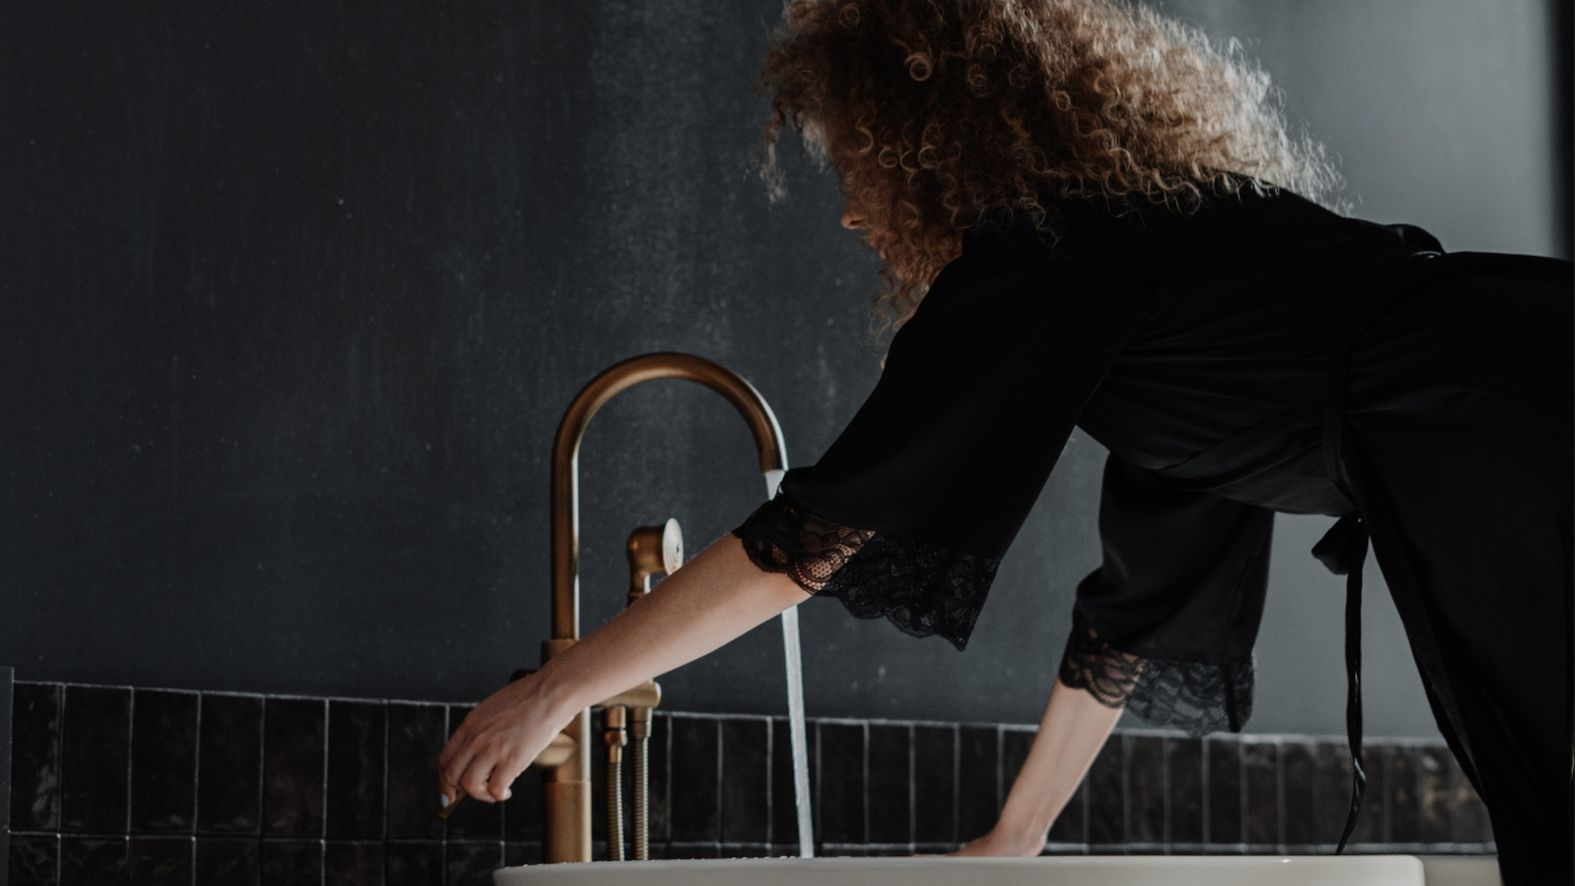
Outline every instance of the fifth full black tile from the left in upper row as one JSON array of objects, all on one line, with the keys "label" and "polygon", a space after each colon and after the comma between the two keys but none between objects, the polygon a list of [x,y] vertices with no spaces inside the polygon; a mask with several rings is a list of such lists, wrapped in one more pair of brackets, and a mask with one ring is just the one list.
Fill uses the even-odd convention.
[{"label": "fifth full black tile from the left in upper row", "polygon": [[[263,832],[323,836],[323,699],[268,697],[263,702]],[[268,853],[263,853],[268,866]],[[265,877],[266,880],[266,877]]]}]

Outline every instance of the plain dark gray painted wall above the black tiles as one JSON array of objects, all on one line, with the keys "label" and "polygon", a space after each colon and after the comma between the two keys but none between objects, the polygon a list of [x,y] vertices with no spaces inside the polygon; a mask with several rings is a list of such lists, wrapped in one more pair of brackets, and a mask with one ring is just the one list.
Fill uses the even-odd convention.
[{"label": "plain dark gray painted wall above the black tiles", "polygon": [[[1170,8],[1252,44],[1364,216],[1567,255],[1551,6]],[[551,434],[592,375],[717,359],[813,461],[879,375],[877,266],[795,150],[786,205],[747,167],[778,9],[0,5],[0,661],[471,700],[539,661]],[[1074,434],[967,653],[800,607],[810,713],[1036,721],[1102,456]],[[762,494],[743,425],[684,382],[613,401],[580,464],[587,626],[633,526],[677,516],[696,552]],[[1343,729],[1326,524],[1280,522],[1252,730]],[[1432,735],[1369,579],[1369,733]],[[781,664],[772,622],[666,703],[781,711]]]}]

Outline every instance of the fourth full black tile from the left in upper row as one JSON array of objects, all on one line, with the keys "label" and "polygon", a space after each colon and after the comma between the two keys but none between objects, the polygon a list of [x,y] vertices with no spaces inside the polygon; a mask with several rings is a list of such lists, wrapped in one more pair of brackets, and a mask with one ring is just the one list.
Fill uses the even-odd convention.
[{"label": "fourth full black tile from the left in upper row", "polygon": [[197,752],[197,832],[258,834],[263,826],[263,697],[203,692]]}]

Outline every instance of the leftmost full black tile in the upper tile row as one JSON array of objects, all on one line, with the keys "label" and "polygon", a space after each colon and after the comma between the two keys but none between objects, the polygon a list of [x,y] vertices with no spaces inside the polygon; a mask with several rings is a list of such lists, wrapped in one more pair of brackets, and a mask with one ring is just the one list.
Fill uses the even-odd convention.
[{"label": "leftmost full black tile in the upper tile row", "polygon": [[65,686],[16,683],[11,700],[11,828],[60,828],[60,721]]}]

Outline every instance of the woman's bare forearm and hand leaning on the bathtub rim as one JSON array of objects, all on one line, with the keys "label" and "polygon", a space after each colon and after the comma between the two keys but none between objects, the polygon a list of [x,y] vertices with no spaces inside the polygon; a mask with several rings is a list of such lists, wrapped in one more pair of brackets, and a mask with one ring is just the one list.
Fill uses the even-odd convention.
[{"label": "woman's bare forearm and hand leaning on the bathtub rim", "polygon": [[995,828],[953,855],[1040,855],[1051,825],[1088,774],[1118,719],[1121,708],[1106,707],[1087,689],[1074,689],[1057,677],[1040,732]]}]

